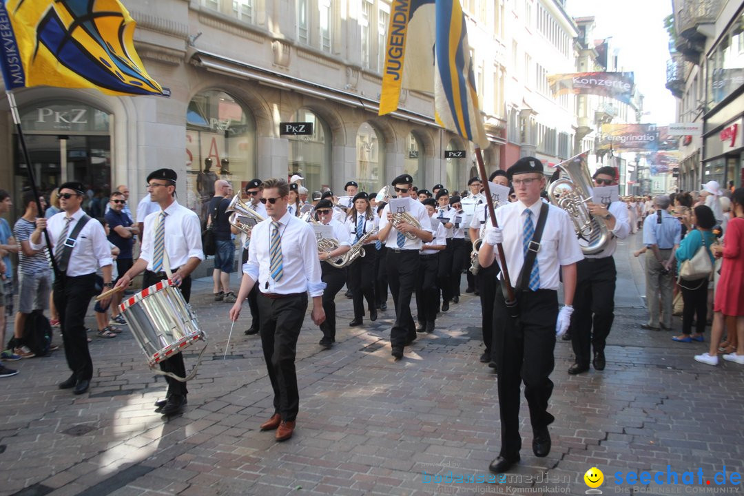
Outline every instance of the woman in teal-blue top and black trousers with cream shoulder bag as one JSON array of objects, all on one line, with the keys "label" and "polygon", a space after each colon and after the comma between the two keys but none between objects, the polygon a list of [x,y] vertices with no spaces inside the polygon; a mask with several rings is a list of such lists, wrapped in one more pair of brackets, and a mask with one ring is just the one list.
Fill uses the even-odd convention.
[{"label": "woman in teal-blue top and black trousers with cream shoulder bag", "polygon": [[[716,225],[716,219],[713,216],[713,210],[705,205],[695,207],[693,210],[692,224],[695,229],[684,236],[679,248],[676,251],[677,272],[679,273],[682,262],[692,259],[700,247],[705,243],[705,251],[708,257],[711,257],[711,263],[715,263],[713,254],[711,254],[711,245],[716,241],[716,236],[711,229]],[[673,341],[704,341],[703,332],[705,332],[705,321],[708,318],[708,279],[703,277],[698,280],[685,280],[680,283],[682,288],[682,301],[684,309],[682,310],[682,334],[673,336]],[[695,323],[695,334],[692,334],[693,315],[697,314]]]}]

